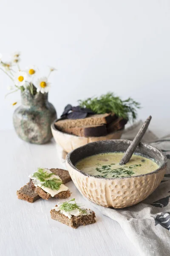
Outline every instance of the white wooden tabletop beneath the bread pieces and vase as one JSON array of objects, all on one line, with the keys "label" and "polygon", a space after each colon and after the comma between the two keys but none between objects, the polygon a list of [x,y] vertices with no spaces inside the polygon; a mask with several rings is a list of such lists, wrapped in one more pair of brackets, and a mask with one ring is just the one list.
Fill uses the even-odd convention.
[{"label": "white wooden tabletop beneath the bread pieces and vase", "polygon": [[85,201],[73,182],[71,198],[96,212],[96,223],[74,230],[50,217],[58,202],[17,199],[16,191],[37,167],[62,168],[54,141],[33,145],[14,131],[0,132],[0,255],[1,256],[138,256],[116,221]]}]

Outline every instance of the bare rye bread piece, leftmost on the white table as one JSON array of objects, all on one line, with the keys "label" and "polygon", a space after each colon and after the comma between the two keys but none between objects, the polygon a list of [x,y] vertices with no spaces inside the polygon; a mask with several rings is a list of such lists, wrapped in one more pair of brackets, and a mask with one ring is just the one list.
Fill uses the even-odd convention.
[{"label": "bare rye bread piece, leftmost on the white table", "polygon": [[29,203],[33,203],[40,198],[40,196],[30,188],[29,183],[20,188],[20,190],[17,190],[17,197]]}]

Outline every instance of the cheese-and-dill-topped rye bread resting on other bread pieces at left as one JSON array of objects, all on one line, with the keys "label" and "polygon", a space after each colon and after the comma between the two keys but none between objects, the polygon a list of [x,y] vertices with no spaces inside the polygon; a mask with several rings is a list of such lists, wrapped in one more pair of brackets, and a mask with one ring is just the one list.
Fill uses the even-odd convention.
[{"label": "cheese-and-dill-topped rye bread resting on other bread pieces at left", "polygon": [[[56,173],[59,173],[60,171],[61,169],[59,171],[57,170]],[[30,188],[33,189],[42,199],[48,200],[51,197],[64,199],[71,195],[68,187],[63,185],[64,182],[62,179],[48,169],[38,169],[37,172],[33,175],[29,175],[29,177]],[[68,180],[68,174],[65,173],[65,175],[62,175],[62,178],[64,181]]]}]

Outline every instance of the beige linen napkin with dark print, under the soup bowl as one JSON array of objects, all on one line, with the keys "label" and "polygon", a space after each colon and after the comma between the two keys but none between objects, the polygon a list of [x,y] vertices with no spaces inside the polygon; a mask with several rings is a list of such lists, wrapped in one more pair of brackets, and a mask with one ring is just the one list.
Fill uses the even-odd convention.
[{"label": "beige linen napkin with dark print, under the soup bowl", "polygon": [[[141,125],[142,121],[139,121],[127,128],[122,138],[133,140]],[[104,215],[119,222],[140,255],[170,256],[170,134],[158,139],[148,129],[143,141],[161,149],[167,156],[167,171],[159,187],[141,203],[125,209],[91,204]]]}]

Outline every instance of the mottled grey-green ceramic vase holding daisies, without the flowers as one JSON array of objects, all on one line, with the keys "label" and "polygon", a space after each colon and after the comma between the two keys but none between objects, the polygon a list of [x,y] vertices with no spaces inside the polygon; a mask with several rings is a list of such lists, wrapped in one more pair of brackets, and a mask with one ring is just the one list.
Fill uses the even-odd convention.
[{"label": "mottled grey-green ceramic vase holding daisies, without the flowers", "polygon": [[21,105],[14,111],[13,123],[22,140],[44,144],[52,138],[50,126],[56,118],[56,110],[48,102],[48,93],[36,93],[33,96],[26,89],[21,93]]}]

